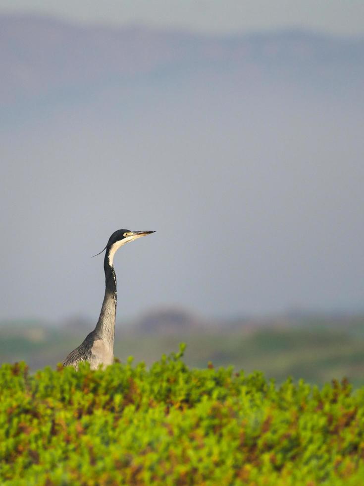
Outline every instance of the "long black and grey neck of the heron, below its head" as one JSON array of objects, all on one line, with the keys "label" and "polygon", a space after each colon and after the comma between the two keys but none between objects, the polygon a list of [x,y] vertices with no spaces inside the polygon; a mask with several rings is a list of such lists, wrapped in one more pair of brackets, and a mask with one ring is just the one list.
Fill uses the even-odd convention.
[{"label": "long black and grey neck of the heron, below its head", "polygon": [[95,331],[104,341],[104,344],[113,349],[116,316],[116,275],[114,267],[109,263],[107,251],[104,259],[104,271],[105,296]]}]

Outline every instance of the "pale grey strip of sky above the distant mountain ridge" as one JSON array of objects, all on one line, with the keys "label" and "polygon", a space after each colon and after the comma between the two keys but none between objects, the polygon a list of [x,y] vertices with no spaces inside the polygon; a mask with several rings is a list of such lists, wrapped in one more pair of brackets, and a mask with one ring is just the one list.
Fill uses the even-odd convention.
[{"label": "pale grey strip of sky above the distant mountain ridge", "polygon": [[143,22],[204,32],[304,27],[364,33],[363,0],[1,0],[0,11],[61,15],[87,22]]}]

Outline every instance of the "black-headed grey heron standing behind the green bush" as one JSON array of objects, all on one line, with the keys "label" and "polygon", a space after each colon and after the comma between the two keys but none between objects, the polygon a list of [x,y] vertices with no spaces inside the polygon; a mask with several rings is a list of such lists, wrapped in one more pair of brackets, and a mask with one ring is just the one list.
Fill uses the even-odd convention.
[{"label": "black-headed grey heron standing behind the green bush", "polygon": [[[154,231],[117,230],[109,238],[104,250],[105,295],[101,307],[100,317],[95,329],[90,332],[84,341],[69,353],[63,361],[63,366],[78,368],[81,361],[90,363],[91,369],[97,369],[114,362],[114,337],[116,316],[116,274],[113,266],[116,251],[125,243],[133,242],[138,238],[155,233]],[[97,256],[97,255],[95,255]]]}]

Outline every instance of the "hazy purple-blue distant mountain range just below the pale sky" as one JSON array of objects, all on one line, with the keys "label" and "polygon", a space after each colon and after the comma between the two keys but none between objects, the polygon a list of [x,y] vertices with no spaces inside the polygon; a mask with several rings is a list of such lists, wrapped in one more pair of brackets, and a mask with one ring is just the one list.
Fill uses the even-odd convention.
[{"label": "hazy purple-blue distant mountain range just below the pale sky", "polygon": [[303,31],[231,37],[147,27],[85,26],[0,16],[0,106],[64,100],[130,83],[238,76],[243,84],[351,88],[364,78],[364,39]]}]

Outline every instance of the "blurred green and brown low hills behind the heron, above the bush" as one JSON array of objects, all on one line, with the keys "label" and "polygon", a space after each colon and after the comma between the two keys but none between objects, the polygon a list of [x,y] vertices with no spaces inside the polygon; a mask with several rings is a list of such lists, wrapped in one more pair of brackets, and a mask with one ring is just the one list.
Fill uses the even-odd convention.
[{"label": "blurred green and brown low hills behind the heron, above the bush", "polygon": [[[168,328],[168,325],[170,327]],[[0,361],[25,360],[33,370],[54,367],[93,329],[73,320],[49,327],[40,322],[3,322]],[[364,315],[301,315],[209,322],[189,312],[161,309],[116,326],[115,356],[151,364],[187,343],[186,363],[206,367],[234,365],[262,370],[277,381],[288,375],[322,384],[348,377],[364,384]]]}]

